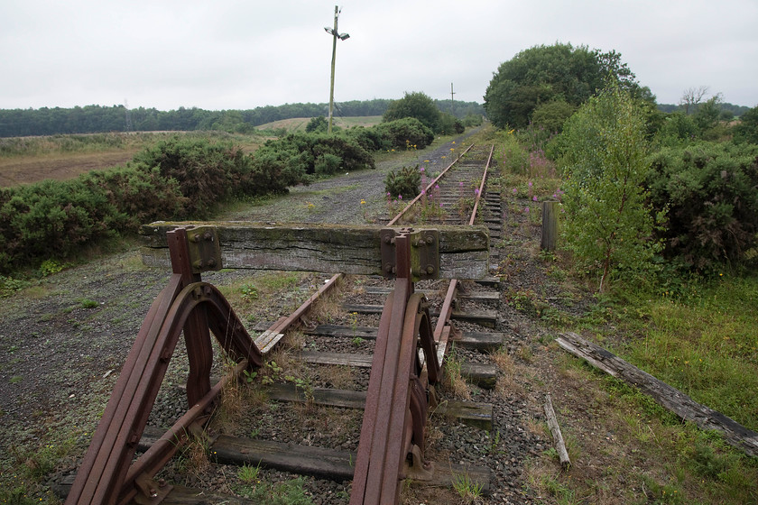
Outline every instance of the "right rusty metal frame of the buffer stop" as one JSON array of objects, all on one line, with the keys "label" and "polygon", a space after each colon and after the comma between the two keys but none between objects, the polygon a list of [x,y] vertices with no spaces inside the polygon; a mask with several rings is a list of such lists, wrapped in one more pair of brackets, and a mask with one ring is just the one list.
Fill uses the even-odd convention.
[{"label": "right rusty metal frame of the buffer stop", "polygon": [[409,458],[417,470],[430,470],[423,459],[427,389],[438,381],[440,368],[426,298],[414,293],[411,236],[401,233],[393,239],[395,289],[379,321],[350,495],[353,505],[397,503]]}]

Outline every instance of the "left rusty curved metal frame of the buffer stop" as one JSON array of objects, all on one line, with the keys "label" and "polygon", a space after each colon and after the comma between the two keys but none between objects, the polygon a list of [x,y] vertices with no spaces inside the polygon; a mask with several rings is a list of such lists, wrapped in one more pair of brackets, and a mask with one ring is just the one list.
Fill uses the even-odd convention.
[{"label": "left rusty curved metal frame of the buffer stop", "polygon": [[[236,372],[263,366],[245,326],[226,298],[200,280],[190,259],[187,230],[169,232],[173,275],[143,321],[103,417],[69,491],[67,504],[126,503],[139,497],[154,503],[166,492],[153,475],[176,452],[187,432],[207,418],[221,386],[210,387],[210,332],[238,364]],[[132,459],[168,369],[184,333],[189,358],[190,409],[159,443],[134,464]],[[160,491],[160,492],[159,492]]]}]

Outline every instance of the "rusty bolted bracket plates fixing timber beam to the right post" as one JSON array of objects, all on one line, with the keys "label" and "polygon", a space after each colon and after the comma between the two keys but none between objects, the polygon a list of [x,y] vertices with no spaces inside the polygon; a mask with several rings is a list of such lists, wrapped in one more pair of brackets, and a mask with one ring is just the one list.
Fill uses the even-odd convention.
[{"label": "rusty bolted bracket plates fixing timber beam to the right post", "polygon": [[439,230],[413,228],[384,228],[379,232],[382,252],[382,275],[394,279],[395,237],[407,235],[411,239],[411,277],[414,282],[439,278]]}]

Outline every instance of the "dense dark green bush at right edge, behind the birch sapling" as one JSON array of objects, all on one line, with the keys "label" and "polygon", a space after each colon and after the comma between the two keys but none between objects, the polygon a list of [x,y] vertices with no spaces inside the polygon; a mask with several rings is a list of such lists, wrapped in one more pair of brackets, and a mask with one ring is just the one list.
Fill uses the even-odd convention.
[{"label": "dense dark green bush at right edge, behind the birch sapling", "polygon": [[695,271],[744,262],[758,245],[758,146],[697,142],[650,163],[652,205],[668,208],[667,257]]}]

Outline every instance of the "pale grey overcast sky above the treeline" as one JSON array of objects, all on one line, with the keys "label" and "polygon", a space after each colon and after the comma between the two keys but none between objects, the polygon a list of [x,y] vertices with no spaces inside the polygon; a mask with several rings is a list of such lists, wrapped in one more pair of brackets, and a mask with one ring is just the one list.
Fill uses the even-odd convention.
[{"label": "pale grey overcast sky above the treeline", "polygon": [[[557,41],[616,50],[658,103],[758,105],[758,0],[345,0],[335,100],[482,103]],[[0,108],[250,109],[329,98],[333,0],[0,0]]]}]

